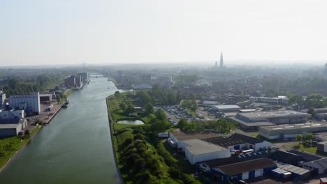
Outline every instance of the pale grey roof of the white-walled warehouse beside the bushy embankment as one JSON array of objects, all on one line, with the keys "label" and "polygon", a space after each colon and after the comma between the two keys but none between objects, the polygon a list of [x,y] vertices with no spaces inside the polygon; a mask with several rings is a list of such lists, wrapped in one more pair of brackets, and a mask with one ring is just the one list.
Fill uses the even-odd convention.
[{"label": "pale grey roof of the white-walled warehouse beside the bushy embankment", "polygon": [[184,141],[184,143],[186,143],[188,145],[187,149],[189,149],[189,151],[193,155],[201,155],[204,153],[212,153],[212,152],[216,152],[216,151],[227,150],[224,147],[217,146],[215,144],[210,144],[208,142],[201,141],[198,139],[187,140],[187,141]]}]

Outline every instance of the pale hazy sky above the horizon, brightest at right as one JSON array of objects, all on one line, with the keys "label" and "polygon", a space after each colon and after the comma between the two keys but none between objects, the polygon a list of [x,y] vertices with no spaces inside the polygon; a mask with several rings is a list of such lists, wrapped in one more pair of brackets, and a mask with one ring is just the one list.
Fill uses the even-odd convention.
[{"label": "pale hazy sky above the horizon, brightest at right", "polygon": [[0,0],[0,64],[327,61],[325,0]]}]

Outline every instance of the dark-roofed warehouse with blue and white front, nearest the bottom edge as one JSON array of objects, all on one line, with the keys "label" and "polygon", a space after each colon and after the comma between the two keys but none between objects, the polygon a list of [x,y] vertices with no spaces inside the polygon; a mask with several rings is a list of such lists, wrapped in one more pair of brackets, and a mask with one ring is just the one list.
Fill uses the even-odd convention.
[{"label": "dark-roofed warehouse with blue and white front, nearest the bottom edge", "polygon": [[212,172],[221,176],[221,181],[239,181],[263,176],[275,169],[277,165],[268,158],[247,160],[233,164],[225,164],[212,168]]}]

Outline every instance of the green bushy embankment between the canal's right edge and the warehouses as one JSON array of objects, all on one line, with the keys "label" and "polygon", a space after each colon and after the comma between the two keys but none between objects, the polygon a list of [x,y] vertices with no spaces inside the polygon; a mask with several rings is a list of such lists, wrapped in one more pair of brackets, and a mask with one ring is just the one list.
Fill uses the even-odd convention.
[{"label": "green bushy embankment between the canal's right edge and the warehouses", "polygon": [[[121,93],[117,98],[107,98],[110,130],[115,148],[117,164],[126,183],[198,183],[191,174],[191,165],[185,160],[176,159],[167,151],[157,133],[152,132],[154,114],[139,112],[137,119],[145,125],[122,125],[115,123],[129,117],[119,108],[121,102],[132,103],[131,93]],[[182,157],[182,156],[181,156]],[[182,162],[180,162],[182,160]],[[187,174],[185,174],[187,173]]]}]

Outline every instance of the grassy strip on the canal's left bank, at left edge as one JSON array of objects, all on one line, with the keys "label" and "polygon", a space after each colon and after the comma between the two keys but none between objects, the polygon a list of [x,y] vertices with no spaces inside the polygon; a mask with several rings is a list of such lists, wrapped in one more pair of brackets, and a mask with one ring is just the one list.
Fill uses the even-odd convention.
[{"label": "grassy strip on the canal's left bank, at left edge", "polygon": [[37,125],[33,131],[24,137],[9,137],[0,139],[0,168],[29,140],[34,133],[38,132],[41,125]]}]

